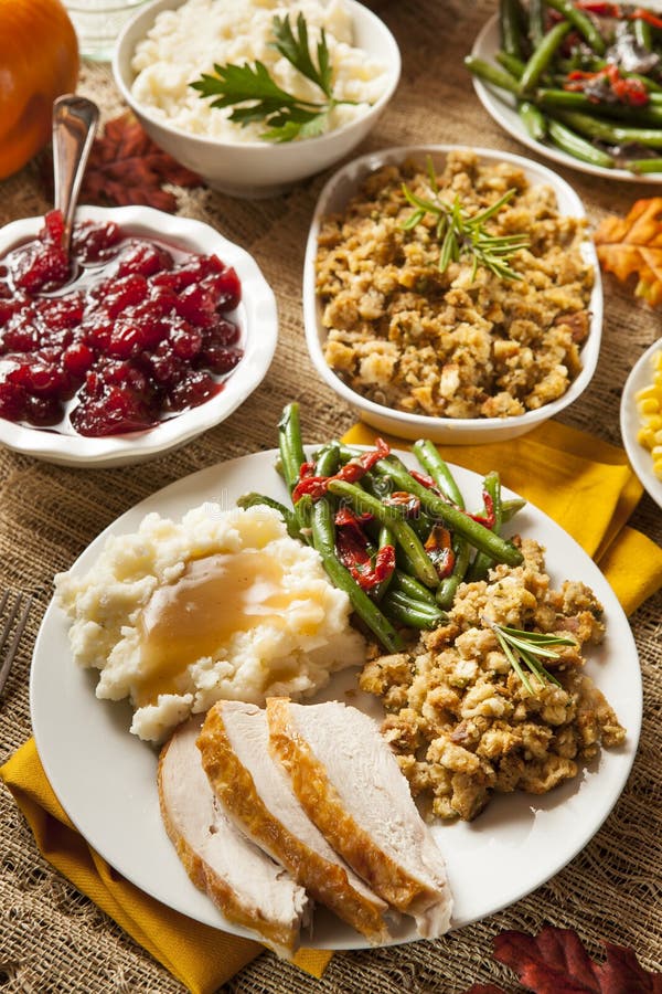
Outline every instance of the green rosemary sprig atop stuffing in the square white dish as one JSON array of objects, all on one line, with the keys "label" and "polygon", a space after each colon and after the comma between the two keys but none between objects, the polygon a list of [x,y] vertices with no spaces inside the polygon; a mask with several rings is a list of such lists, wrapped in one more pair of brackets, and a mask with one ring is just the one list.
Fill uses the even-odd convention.
[{"label": "green rosemary sprig atop stuffing in the square white dish", "polygon": [[413,214],[402,224],[404,231],[410,231],[420,224],[426,214],[436,218],[435,232],[441,243],[439,251],[439,272],[444,273],[450,262],[459,262],[462,256],[473,260],[471,279],[476,279],[476,273],[480,265],[485,266],[502,279],[521,279],[509,265],[509,258],[519,248],[528,245],[526,235],[491,235],[485,229],[485,221],[499,213],[502,207],[511,200],[515,190],[508,190],[495,203],[471,216],[461,205],[458,197],[452,203],[447,203],[439,195],[439,187],[431,159],[427,158],[428,180],[433,193],[433,200],[418,197],[403,183],[403,193],[408,203],[416,208]]}]

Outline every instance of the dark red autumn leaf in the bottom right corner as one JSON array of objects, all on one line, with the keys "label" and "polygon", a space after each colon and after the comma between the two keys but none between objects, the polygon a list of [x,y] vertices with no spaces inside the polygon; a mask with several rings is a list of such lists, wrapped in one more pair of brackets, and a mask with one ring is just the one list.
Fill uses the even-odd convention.
[{"label": "dark red autumn leaf in the bottom right corner", "polygon": [[[534,938],[505,931],[494,939],[494,959],[517,974],[535,994],[662,994],[662,973],[648,973],[634,952],[605,942],[605,963],[590,959],[573,929],[542,929]],[[474,984],[468,994],[505,994]]]}]

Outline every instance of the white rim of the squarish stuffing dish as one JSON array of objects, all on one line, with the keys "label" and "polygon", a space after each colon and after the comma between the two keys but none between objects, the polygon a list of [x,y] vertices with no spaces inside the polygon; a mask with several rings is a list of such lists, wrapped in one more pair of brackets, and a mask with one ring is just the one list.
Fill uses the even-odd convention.
[{"label": "white rim of the squarish stuffing dish", "polygon": [[391,423],[391,431],[395,434],[397,434],[398,427],[401,432],[408,431],[407,437],[414,437],[415,433],[418,432],[421,435],[428,434],[436,441],[462,444],[469,441],[470,435],[473,436],[471,441],[479,441],[477,436],[482,436],[480,441],[489,442],[494,441],[496,437],[503,440],[524,434],[558,414],[577,400],[588,387],[598,363],[602,337],[602,284],[598,257],[592,242],[587,237],[581,243],[584,258],[592,265],[595,277],[589,303],[591,315],[590,331],[580,352],[581,371],[573,380],[563,396],[544,404],[535,411],[527,411],[524,414],[516,414],[512,417],[431,417],[425,414],[396,411],[356,393],[343,383],[324,359],[322,340],[327,336],[327,329],[321,325],[321,308],[314,289],[314,258],[320,222],[325,214],[339,209],[341,197],[342,202],[346,202],[346,199],[356,191],[361,180],[383,165],[402,162],[413,156],[433,155],[442,157],[456,150],[473,151],[483,162],[510,162],[521,167],[530,180],[538,183],[548,183],[554,189],[559,200],[562,214],[586,220],[584,204],[569,183],[552,169],[523,156],[470,145],[407,145],[367,152],[338,169],[322,188],[318,198],[303,262],[303,324],[308,350],[318,373],[335,393],[357,409],[366,420],[370,420],[372,423],[378,422],[381,425]]}]

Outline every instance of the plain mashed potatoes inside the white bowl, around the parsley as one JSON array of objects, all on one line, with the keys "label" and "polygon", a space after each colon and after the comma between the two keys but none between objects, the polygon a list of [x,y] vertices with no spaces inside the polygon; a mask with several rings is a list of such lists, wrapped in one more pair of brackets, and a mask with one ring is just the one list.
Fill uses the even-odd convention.
[{"label": "plain mashed potatoes inside the white bowl, around the parsley", "polygon": [[343,0],[186,0],[175,10],[161,11],[136,47],[131,93],[154,118],[183,131],[222,141],[258,141],[263,123],[242,126],[229,120],[232,107],[212,107],[190,84],[202,73],[213,74],[214,65],[259,61],[282,89],[319,102],[319,88],[271,45],[274,18],[289,15],[293,27],[299,13],[306,18],[312,52],[324,30],[334,96],[355,102],[333,108],[328,130],[349,124],[382,96],[387,73],[382,63],[352,45],[352,19]]}]

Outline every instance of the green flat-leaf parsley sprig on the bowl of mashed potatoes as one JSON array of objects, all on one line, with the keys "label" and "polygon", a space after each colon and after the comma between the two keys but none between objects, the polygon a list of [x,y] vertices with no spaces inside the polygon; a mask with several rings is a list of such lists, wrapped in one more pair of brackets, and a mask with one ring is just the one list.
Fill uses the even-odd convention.
[{"label": "green flat-leaf parsley sprig on the bowl of mashed potatoes", "polygon": [[[333,71],[329,62],[329,49],[324,29],[317,45],[317,64],[310,54],[308,25],[302,13],[297,18],[296,33],[289,18],[275,17],[273,21],[276,49],[291,65],[318,86],[325,99],[318,103],[302,101],[281,89],[263,62],[254,65],[214,65],[215,75],[203,73],[191,83],[201,97],[215,96],[212,107],[232,107],[229,119],[245,127],[263,121],[268,130],[260,135],[267,141],[291,141],[293,138],[314,138],[328,128],[329,115],[339,104],[333,96]],[[235,106],[245,105],[245,106]]]}]

